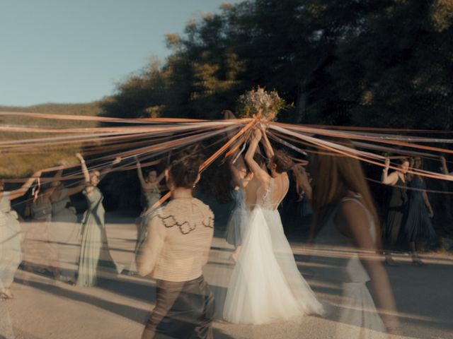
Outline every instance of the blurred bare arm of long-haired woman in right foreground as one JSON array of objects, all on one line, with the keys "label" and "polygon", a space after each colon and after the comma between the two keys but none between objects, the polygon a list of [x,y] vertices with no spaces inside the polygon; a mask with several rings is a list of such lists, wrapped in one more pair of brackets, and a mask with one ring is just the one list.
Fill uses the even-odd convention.
[{"label": "blurred bare arm of long-haired woman in right foreground", "polygon": [[343,232],[352,238],[360,250],[360,261],[371,278],[373,295],[379,311],[382,312],[382,321],[389,332],[396,331],[400,328],[400,323],[396,316],[394,293],[386,270],[382,266],[382,260],[376,255],[377,248],[369,231],[367,214],[356,201],[345,201],[342,204],[342,212],[346,228]]}]

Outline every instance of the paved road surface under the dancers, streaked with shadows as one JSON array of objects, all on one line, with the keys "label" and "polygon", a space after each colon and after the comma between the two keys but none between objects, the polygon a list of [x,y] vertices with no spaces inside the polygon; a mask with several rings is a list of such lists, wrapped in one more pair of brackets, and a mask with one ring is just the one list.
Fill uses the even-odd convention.
[{"label": "paved road surface under the dancers, streaked with shadows", "polygon": [[[136,230],[128,221],[108,224],[108,241],[113,258],[133,270],[130,263]],[[316,295],[334,301],[334,290],[310,279],[304,244],[292,242],[292,248]],[[75,268],[77,249],[74,239],[61,245],[62,266],[68,275]],[[217,286],[214,288],[226,285],[232,270],[230,251],[223,239],[214,239],[210,263],[205,268],[207,280]],[[401,265],[389,268],[388,273],[401,314],[403,338],[453,338],[453,257],[430,254],[425,258],[429,263],[425,267],[411,265],[408,256],[396,259]],[[16,338],[140,338],[154,306],[153,281],[136,275],[122,274],[100,287],[81,288],[52,283],[45,274],[27,277],[19,270],[13,290],[16,299],[0,302],[0,333],[6,338],[12,336],[11,331]],[[313,316],[263,326],[216,321],[214,338],[325,339],[334,338],[336,326],[333,321]]]}]

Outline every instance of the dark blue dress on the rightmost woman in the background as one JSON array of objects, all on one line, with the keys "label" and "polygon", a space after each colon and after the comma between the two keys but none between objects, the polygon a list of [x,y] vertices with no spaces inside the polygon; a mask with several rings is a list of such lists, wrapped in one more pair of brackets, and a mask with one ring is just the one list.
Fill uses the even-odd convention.
[{"label": "dark blue dress on the rightmost woman in the background", "polygon": [[[419,177],[414,177],[408,182],[408,213],[404,223],[403,237],[408,242],[415,242],[419,239],[435,239],[436,232],[432,227],[430,215],[423,200],[423,191],[426,184]],[[423,190],[423,191],[418,191]]]}]

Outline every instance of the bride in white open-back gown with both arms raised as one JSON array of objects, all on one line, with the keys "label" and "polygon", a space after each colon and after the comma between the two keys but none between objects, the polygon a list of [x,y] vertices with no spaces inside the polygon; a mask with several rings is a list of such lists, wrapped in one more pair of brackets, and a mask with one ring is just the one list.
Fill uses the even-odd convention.
[{"label": "bride in white open-back gown with both arms raised", "polygon": [[[271,175],[253,160],[262,136]],[[245,159],[260,186],[254,203],[247,202],[250,225],[226,293],[224,319],[259,324],[323,314],[322,305],[299,273],[277,210],[289,188],[286,172],[292,160],[282,151],[274,154],[262,128],[253,131]]]}]

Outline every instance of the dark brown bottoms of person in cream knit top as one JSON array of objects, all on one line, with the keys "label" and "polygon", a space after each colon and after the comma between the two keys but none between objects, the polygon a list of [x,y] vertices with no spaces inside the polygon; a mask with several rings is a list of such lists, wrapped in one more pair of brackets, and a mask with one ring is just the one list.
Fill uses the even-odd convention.
[{"label": "dark brown bottoms of person in cream knit top", "polygon": [[212,338],[214,297],[203,275],[176,283],[156,280],[154,307],[142,339]]}]

